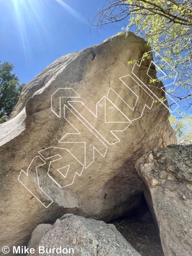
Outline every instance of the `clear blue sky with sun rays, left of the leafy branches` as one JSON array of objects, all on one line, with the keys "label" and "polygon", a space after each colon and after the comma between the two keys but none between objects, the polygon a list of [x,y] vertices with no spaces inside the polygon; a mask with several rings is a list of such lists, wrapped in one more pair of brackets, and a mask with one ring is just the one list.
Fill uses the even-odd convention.
[{"label": "clear blue sky with sun rays, left of the leafy branches", "polygon": [[122,25],[98,35],[89,24],[104,2],[0,0],[0,61],[13,63],[20,83],[27,83],[60,56],[115,35]]}]

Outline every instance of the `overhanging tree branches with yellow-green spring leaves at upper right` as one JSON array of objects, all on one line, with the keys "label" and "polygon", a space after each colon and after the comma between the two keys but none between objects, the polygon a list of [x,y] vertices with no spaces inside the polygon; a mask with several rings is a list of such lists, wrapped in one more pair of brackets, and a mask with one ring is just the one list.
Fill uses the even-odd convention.
[{"label": "overhanging tree branches with yellow-green spring leaves at upper right", "polygon": [[[130,29],[143,37],[172,67],[179,78],[169,95],[192,106],[192,0],[106,0],[94,20],[98,28],[124,20],[123,31]],[[164,66],[159,65],[163,70]],[[174,74],[169,74],[174,75]],[[174,77],[172,77],[174,78]]]}]

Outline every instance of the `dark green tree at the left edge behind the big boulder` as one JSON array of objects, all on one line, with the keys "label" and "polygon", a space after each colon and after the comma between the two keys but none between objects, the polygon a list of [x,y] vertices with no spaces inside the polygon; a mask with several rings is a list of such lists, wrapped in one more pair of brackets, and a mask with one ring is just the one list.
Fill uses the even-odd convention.
[{"label": "dark green tree at the left edge behind the big boulder", "polygon": [[0,61],[0,123],[5,122],[11,114],[25,85],[19,84],[12,70],[13,64]]}]

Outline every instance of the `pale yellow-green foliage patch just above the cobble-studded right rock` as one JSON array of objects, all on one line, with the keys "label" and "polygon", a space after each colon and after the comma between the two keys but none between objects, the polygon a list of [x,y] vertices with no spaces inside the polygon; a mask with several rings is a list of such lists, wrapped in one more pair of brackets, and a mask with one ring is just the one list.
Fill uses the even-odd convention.
[{"label": "pale yellow-green foliage patch just above the cobble-studded right rock", "polygon": [[175,130],[178,144],[192,144],[192,116],[177,118],[174,115],[169,116],[169,122]]}]

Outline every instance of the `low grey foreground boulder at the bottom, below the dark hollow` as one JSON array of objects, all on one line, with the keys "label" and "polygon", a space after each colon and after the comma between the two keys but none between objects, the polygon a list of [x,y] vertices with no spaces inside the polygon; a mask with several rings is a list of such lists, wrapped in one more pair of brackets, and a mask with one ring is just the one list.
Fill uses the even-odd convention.
[{"label": "low grey foreground boulder at the bottom, below the dark hollow", "polygon": [[[61,246],[61,249],[68,250],[67,255],[74,256],[140,256],[114,225],[72,214],[66,214],[57,219],[36,245],[35,254],[28,254],[28,256],[39,255],[39,246],[51,249]],[[70,248],[74,250],[74,254],[69,254]],[[56,251],[49,254],[58,255]],[[45,252],[41,255],[48,254]]]}]

